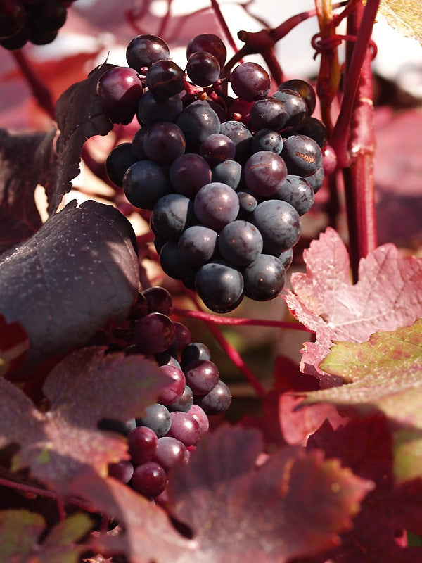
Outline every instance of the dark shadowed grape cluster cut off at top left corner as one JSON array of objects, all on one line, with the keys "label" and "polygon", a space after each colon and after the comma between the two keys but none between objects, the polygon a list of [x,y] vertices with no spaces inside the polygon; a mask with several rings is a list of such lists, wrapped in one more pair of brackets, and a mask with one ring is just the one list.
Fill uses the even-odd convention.
[{"label": "dark shadowed grape cluster cut off at top left corner", "polygon": [[56,39],[75,0],[0,0],[0,45],[13,51]]}]

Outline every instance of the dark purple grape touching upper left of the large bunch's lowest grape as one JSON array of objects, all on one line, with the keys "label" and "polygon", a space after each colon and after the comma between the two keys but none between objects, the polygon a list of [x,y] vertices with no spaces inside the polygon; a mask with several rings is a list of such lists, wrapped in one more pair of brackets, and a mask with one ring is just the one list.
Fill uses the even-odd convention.
[{"label": "dark purple grape touching upper left of the large bunch's lowest grape", "polygon": [[181,234],[177,244],[187,264],[202,266],[215,255],[217,232],[202,224],[193,225]]}]

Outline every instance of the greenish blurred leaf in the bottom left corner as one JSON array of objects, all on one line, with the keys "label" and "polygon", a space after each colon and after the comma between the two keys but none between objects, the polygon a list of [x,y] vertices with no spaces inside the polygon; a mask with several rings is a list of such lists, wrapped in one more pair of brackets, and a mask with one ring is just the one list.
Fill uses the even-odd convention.
[{"label": "greenish blurred leaf in the bottom left corner", "polygon": [[56,524],[40,545],[39,538],[46,529],[41,514],[3,510],[0,512],[1,562],[77,563],[87,548],[75,542],[91,527],[86,514],[73,514]]}]

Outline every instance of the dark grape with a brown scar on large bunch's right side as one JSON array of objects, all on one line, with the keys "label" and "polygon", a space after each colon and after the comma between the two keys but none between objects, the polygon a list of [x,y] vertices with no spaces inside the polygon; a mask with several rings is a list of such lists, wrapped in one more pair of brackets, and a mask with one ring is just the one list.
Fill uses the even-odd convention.
[{"label": "dark grape with a brown scar on large bunch's right side", "polygon": [[286,162],[289,174],[312,176],[322,165],[319,145],[306,135],[292,135],[284,141],[281,156]]}]

